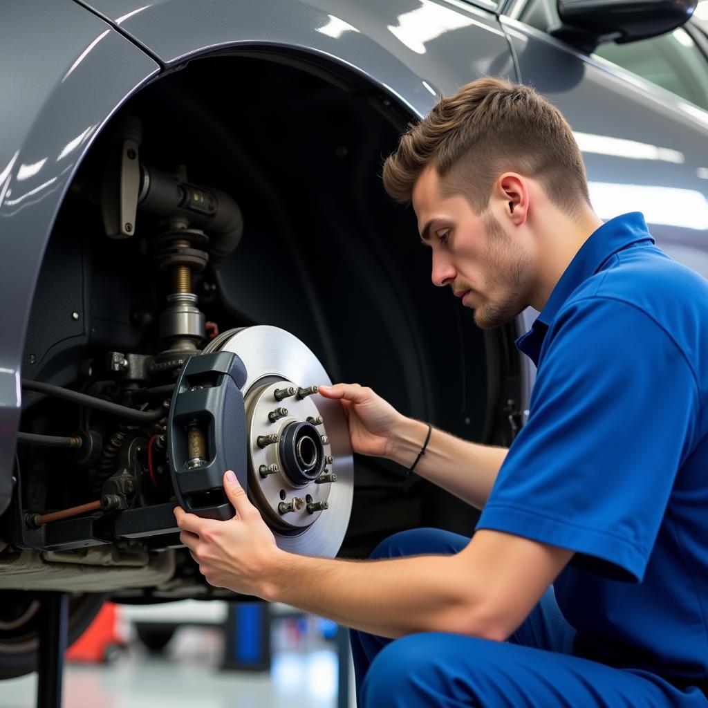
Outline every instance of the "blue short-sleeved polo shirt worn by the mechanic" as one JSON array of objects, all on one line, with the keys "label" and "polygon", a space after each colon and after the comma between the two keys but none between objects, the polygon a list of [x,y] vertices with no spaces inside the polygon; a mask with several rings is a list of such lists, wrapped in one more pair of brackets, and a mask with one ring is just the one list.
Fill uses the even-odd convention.
[{"label": "blue short-sleeved polo shirt worn by the mechanic", "polygon": [[554,583],[574,653],[706,680],[708,281],[623,215],[516,344],[530,415],[477,528],[575,552]]}]

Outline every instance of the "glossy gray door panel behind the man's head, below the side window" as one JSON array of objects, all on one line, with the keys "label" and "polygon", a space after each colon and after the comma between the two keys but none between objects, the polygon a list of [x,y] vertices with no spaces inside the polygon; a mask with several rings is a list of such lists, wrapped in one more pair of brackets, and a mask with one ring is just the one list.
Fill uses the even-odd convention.
[{"label": "glossy gray door panel behind the man's head, below the side window", "polygon": [[[600,218],[644,212],[658,244],[708,277],[702,256],[708,243],[708,113],[522,23],[502,22],[522,80],[573,127]],[[692,249],[695,257],[687,257]]]}]

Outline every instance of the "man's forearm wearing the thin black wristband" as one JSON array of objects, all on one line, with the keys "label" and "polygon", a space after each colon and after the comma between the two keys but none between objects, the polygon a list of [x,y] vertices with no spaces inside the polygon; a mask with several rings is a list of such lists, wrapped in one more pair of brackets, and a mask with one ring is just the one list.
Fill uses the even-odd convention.
[{"label": "man's forearm wearing the thin black wristband", "polygon": [[[410,467],[423,446],[428,425],[406,418],[396,432],[394,459]],[[481,509],[507,452],[506,447],[477,445],[433,428],[426,454],[416,465],[416,474]]]}]

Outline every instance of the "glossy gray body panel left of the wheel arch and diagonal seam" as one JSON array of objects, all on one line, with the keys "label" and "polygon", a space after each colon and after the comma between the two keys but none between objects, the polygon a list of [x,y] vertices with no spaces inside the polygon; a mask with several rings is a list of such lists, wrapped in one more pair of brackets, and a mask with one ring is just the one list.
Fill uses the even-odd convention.
[{"label": "glossy gray body panel left of the wheel arch and diagonal seam", "polygon": [[[43,30],[52,31],[47,37]],[[0,513],[11,495],[21,412],[25,331],[59,205],[89,145],[115,108],[159,66],[110,25],[69,0],[12,4],[0,25],[4,98],[0,140]],[[20,98],[21,97],[21,98]],[[81,303],[67,303],[67,325]],[[80,307],[79,307],[80,310]]]}]

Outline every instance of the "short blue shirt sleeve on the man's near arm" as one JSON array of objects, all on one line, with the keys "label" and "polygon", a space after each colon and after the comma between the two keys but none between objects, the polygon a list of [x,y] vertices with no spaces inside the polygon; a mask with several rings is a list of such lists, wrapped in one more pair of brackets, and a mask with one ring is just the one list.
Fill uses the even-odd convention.
[{"label": "short blue shirt sleeve on the man's near arm", "polygon": [[566,304],[547,338],[528,421],[477,528],[641,581],[697,423],[692,368],[651,316],[617,299]]}]

